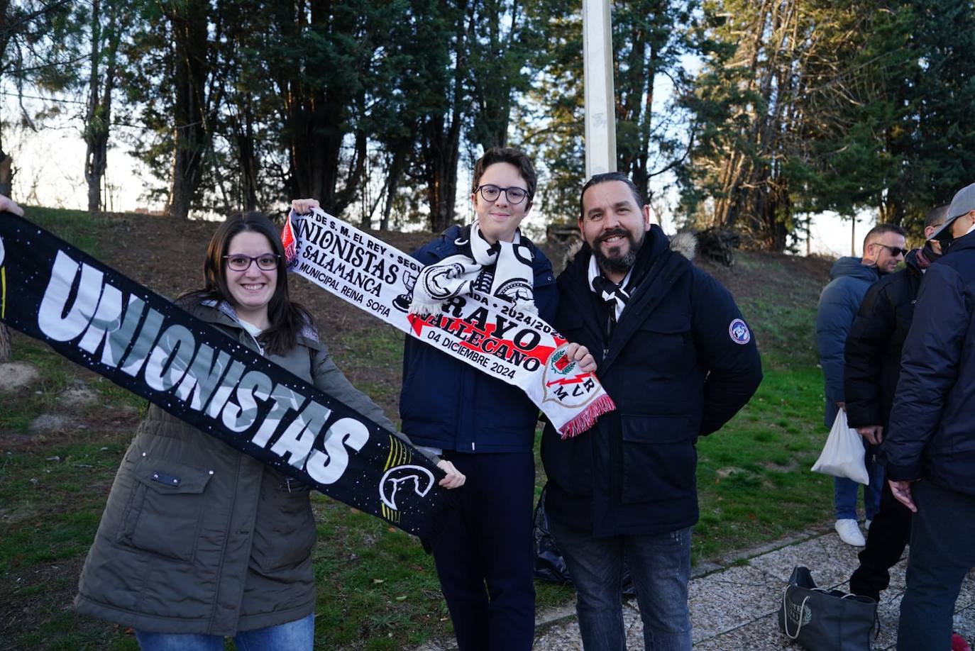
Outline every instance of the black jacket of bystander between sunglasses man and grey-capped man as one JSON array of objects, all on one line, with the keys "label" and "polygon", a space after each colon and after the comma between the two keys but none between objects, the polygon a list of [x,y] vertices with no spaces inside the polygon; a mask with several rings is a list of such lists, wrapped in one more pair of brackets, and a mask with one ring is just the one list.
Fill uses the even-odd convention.
[{"label": "black jacket of bystander between sunglasses man and grey-capped man", "polygon": [[867,290],[846,337],[843,395],[853,428],[882,425],[886,432],[890,423],[901,352],[923,277],[917,249],[908,253],[905,263],[904,269],[883,276]]}]

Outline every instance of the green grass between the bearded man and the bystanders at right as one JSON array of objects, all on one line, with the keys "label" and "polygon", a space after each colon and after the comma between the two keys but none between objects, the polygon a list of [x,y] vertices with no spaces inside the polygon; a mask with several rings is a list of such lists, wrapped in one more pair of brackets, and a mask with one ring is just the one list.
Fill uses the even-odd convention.
[{"label": "green grass between the bearded man and the bystanders at right", "polygon": [[827,435],[815,351],[819,288],[763,286],[738,300],[759,342],[764,379],[720,432],[698,442],[695,562],[795,534],[833,515],[833,478],[809,471]]}]

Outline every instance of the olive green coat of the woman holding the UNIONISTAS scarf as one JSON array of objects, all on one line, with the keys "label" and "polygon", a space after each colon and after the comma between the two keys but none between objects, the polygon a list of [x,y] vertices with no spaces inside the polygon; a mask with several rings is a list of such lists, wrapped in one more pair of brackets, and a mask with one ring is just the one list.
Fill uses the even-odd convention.
[{"label": "olive green coat of the woman holding the UNIONISTAS scarf", "polygon": [[[257,350],[221,308],[191,312]],[[305,334],[269,359],[395,432]],[[292,622],[315,606],[314,543],[307,486],[152,405],[112,484],[74,605],[147,632],[233,635]]]}]

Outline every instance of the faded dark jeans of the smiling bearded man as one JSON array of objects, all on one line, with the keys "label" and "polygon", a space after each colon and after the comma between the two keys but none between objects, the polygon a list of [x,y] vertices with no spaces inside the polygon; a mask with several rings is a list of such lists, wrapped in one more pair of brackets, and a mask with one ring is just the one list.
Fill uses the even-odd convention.
[{"label": "faded dark jeans of the smiling bearded man", "polygon": [[690,651],[690,527],[653,535],[594,538],[549,520],[575,584],[575,612],[586,651],[623,651],[623,564],[637,589],[643,645]]}]

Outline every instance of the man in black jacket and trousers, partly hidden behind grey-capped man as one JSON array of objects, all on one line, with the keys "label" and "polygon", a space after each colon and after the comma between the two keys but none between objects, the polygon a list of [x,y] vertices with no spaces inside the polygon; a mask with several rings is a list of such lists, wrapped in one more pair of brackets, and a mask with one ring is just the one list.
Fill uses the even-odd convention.
[{"label": "man in black jacket and trousers, partly hidden behind grey-capped man", "polygon": [[[929,238],[945,223],[947,214],[948,206],[927,213],[924,247],[907,254],[904,269],[884,276],[867,290],[846,337],[846,415],[849,426],[869,441],[868,456],[887,432],[917,289],[927,268],[941,256],[941,245]],[[880,510],[870,526],[867,546],[860,552],[860,565],[850,577],[850,592],[879,601],[890,584],[889,570],[901,559],[910,537],[911,511],[882,482]]]}]

